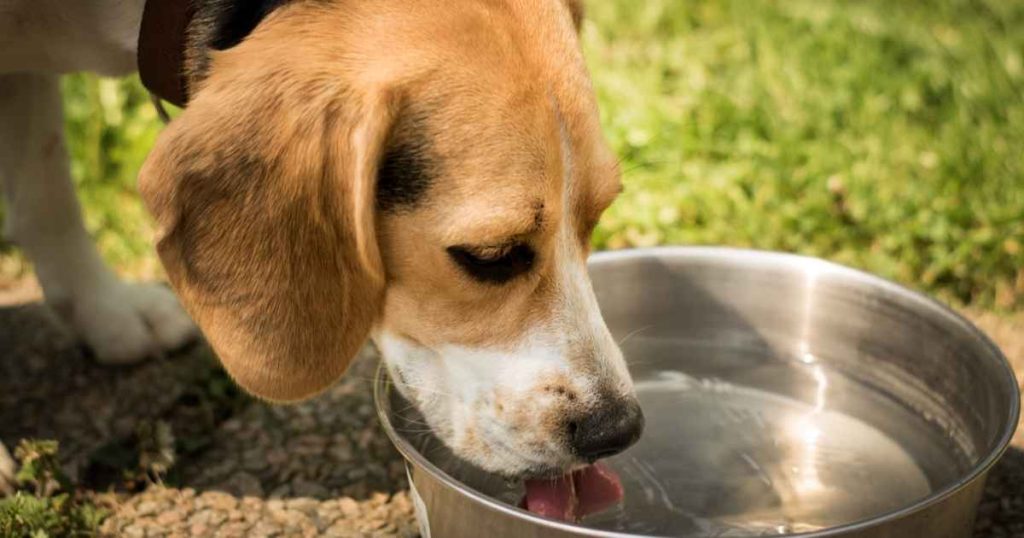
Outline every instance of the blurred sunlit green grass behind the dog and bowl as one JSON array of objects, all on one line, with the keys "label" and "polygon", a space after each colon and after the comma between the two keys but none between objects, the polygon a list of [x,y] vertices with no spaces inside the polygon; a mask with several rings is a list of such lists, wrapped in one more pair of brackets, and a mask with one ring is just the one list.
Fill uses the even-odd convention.
[{"label": "blurred sunlit green grass behind the dog and bowl", "polygon": [[[957,303],[1024,305],[1024,1],[604,0],[583,32],[627,191],[599,248],[822,256]],[[66,81],[89,229],[158,273],[134,79]]]}]

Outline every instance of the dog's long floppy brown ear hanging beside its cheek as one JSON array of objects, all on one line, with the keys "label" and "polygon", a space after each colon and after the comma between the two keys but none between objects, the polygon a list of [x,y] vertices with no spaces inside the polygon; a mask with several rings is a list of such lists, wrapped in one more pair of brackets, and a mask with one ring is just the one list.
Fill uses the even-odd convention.
[{"label": "dog's long floppy brown ear hanging beside its cheek", "polygon": [[171,284],[227,372],[294,401],[344,373],[377,320],[375,183],[394,107],[304,61],[219,54],[139,190]]}]

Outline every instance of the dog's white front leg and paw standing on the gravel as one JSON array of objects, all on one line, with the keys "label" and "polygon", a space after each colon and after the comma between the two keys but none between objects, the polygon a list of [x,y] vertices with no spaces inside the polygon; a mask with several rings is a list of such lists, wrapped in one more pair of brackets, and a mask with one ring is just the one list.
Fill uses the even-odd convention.
[{"label": "dog's white front leg and paw standing on the gravel", "polygon": [[99,362],[133,363],[187,343],[197,331],[170,290],[125,284],[100,259],[82,224],[62,116],[57,76],[0,76],[7,237],[34,262],[46,302]]}]

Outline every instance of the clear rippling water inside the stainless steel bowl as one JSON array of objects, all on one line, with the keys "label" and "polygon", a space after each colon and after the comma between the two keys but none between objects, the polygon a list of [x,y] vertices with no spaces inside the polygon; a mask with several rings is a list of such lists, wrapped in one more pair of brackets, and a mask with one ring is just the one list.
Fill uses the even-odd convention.
[{"label": "clear rippling water inside the stainless steel bowl", "polygon": [[[624,501],[587,527],[692,537],[831,528],[907,506],[972,462],[962,436],[809,354],[641,336],[624,351],[647,426],[608,460]],[[432,438],[415,444],[478,491],[509,504],[522,496]]]}]

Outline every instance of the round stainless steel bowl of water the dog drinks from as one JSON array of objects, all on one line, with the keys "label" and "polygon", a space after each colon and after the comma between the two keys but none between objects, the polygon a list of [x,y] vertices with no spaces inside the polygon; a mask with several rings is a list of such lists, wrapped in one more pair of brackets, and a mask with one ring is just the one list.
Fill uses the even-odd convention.
[{"label": "round stainless steel bowl of water the dog drinks from", "polygon": [[425,537],[971,536],[1019,395],[963,318],[787,254],[658,248],[590,268],[647,417],[609,460],[624,502],[579,525],[516,508],[518,485],[406,427],[382,370],[378,410]]}]

